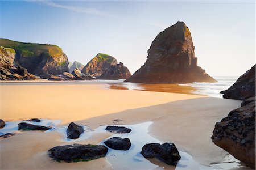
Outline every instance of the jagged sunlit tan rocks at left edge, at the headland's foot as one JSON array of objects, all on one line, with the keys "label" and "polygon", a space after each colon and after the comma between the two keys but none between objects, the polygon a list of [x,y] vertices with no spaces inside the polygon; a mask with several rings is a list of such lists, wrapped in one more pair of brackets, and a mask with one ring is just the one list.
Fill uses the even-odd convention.
[{"label": "jagged sunlit tan rocks at left edge, at the headland's foot", "polygon": [[16,66],[14,49],[0,47],[0,80],[35,80],[38,76],[28,73],[24,67]]}]

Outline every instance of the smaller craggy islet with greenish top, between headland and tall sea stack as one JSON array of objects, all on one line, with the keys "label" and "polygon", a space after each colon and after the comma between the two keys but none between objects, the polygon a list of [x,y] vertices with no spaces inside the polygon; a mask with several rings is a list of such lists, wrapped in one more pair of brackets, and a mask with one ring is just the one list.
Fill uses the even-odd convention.
[{"label": "smaller craggy islet with greenish top, between headland and tall sea stack", "polygon": [[123,63],[107,54],[99,53],[82,70],[82,73],[97,79],[127,79],[131,76]]}]

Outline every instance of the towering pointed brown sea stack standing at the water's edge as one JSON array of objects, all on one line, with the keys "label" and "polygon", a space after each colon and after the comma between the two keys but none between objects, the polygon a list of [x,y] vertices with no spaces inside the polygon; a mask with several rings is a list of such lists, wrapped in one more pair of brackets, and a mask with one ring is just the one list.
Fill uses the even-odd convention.
[{"label": "towering pointed brown sea stack standing at the water's edge", "polygon": [[197,66],[194,50],[188,27],[177,22],[156,36],[146,63],[126,81],[152,84],[216,82]]}]

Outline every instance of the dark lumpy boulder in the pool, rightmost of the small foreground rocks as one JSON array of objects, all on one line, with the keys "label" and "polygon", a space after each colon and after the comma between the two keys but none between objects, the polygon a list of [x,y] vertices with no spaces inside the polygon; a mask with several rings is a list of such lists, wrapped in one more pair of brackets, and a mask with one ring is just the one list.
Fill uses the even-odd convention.
[{"label": "dark lumpy boulder in the pool, rightmost of the small foreground rocks", "polygon": [[177,165],[180,160],[179,151],[174,143],[149,143],[143,146],[141,154],[145,158],[157,158],[168,165]]}]

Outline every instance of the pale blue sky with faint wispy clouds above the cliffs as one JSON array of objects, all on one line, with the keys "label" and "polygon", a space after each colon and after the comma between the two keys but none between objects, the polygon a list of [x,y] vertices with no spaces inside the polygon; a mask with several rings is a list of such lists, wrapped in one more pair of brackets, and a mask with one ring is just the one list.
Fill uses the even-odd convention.
[{"label": "pale blue sky with faint wispy clouds above the cliffs", "polygon": [[198,65],[240,76],[255,64],[254,1],[1,1],[0,37],[55,44],[84,65],[98,53],[133,74],[159,32],[183,21]]}]

